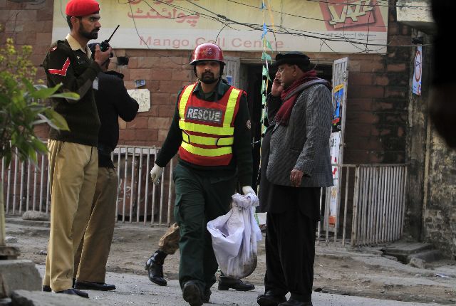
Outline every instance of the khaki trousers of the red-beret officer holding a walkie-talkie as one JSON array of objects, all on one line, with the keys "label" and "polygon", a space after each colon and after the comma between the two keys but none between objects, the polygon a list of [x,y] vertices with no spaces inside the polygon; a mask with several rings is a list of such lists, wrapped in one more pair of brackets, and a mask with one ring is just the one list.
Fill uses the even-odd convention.
[{"label": "khaki trousers of the red-beret officer holding a walkie-talkie", "polygon": [[90,216],[98,172],[96,147],[48,140],[51,234],[43,285],[53,291],[73,285],[74,256]]}]

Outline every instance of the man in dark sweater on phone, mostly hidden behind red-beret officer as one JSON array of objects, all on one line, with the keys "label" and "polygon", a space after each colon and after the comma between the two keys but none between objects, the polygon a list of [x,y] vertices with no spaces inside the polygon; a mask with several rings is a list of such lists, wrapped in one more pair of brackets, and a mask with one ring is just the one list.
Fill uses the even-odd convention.
[{"label": "man in dark sweater on phone, mostly hidden behind red-beret officer", "polygon": [[[95,51],[96,46],[98,43],[90,43],[90,51]],[[75,258],[74,287],[77,289],[115,289],[115,285],[105,283],[118,191],[118,176],[111,153],[119,141],[119,117],[127,122],[132,121],[139,105],[128,95],[123,84],[123,74],[108,71],[109,64],[108,58],[101,66],[103,72],[98,73],[98,90],[95,92],[101,122],[98,132],[98,178],[86,233]]]}]

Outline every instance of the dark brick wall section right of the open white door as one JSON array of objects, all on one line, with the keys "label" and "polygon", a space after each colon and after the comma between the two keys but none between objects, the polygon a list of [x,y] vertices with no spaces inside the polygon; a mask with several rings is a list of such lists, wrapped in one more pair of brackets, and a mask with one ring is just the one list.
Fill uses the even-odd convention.
[{"label": "dark brick wall section right of the open white door", "polygon": [[[389,19],[390,45],[409,45],[410,29],[395,22],[394,10]],[[409,51],[350,56],[344,163],[405,162]]]}]

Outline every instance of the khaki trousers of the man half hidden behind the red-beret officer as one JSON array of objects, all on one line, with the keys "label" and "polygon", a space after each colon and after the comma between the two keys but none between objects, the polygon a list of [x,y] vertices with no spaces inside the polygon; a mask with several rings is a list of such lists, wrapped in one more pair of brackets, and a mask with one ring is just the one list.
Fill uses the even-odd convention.
[{"label": "khaki trousers of the man half hidden behind the red-beret officer", "polygon": [[77,280],[105,283],[106,263],[114,234],[117,191],[115,169],[98,168],[90,219],[75,256],[74,276]]}]

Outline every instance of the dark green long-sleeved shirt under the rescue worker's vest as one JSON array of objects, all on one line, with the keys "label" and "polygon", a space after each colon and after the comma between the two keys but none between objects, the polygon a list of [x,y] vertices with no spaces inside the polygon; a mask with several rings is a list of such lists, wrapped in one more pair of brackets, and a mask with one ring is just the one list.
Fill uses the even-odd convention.
[{"label": "dark green long-sleeved shirt under the rescue worker's vest", "polygon": [[[212,95],[207,97],[204,95],[201,85],[198,83],[193,90],[193,94],[199,99],[206,101],[218,101],[222,98],[224,93],[229,90],[229,85],[219,82]],[[182,143],[182,130],[179,127],[179,98],[182,90],[177,95],[177,103],[174,117],[170,130],[167,134],[162,149],[157,155],[155,164],[160,167],[165,167],[170,159],[175,156],[177,150]],[[197,164],[191,164],[182,159],[179,163],[184,167],[192,169],[202,176],[223,177],[234,176],[237,174],[241,186],[252,185],[252,146],[251,146],[251,133],[249,122],[249,109],[247,105],[247,96],[242,95],[239,101],[239,110],[236,118],[234,119],[234,143],[232,147],[233,158],[227,166],[214,166],[206,167]]]}]

